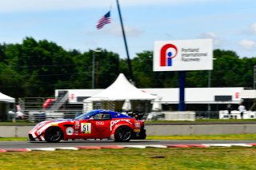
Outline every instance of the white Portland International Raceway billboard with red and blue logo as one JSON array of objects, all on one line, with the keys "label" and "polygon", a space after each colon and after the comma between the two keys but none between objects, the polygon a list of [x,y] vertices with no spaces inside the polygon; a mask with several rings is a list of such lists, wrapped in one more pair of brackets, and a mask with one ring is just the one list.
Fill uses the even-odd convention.
[{"label": "white Portland International Raceway billboard with red and blue logo", "polygon": [[154,42],[154,71],[213,69],[212,39]]}]

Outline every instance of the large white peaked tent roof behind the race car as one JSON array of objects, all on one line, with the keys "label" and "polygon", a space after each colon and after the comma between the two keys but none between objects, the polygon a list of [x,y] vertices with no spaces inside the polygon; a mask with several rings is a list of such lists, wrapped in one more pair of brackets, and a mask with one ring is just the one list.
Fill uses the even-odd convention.
[{"label": "large white peaked tent roof behind the race car", "polygon": [[152,101],[155,98],[154,95],[137,89],[126,79],[123,73],[120,73],[112,85],[93,97],[87,98],[86,101]]}]

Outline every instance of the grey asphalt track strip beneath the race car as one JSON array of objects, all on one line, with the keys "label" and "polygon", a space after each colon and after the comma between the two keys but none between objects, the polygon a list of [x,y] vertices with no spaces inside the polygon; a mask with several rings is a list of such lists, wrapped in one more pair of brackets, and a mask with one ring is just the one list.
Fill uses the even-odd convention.
[{"label": "grey asphalt track strip beneath the race car", "polygon": [[114,142],[112,140],[74,140],[59,143],[30,141],[1,141],[0,148],[52,148],[102,145],[146,145],[146,144],[256,144],[256,140],[131,140],[130,142]]}]

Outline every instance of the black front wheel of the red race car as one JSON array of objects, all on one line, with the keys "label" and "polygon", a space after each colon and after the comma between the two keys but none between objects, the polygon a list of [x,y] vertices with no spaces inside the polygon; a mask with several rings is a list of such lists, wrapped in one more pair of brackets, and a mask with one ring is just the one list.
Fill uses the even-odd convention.
[{"label": "black front wheel of the red race car", "polygon": [[63,132],[61,128],[50,127],[46,130],[45,139],[47,142],[56,143],[63,139]]}]

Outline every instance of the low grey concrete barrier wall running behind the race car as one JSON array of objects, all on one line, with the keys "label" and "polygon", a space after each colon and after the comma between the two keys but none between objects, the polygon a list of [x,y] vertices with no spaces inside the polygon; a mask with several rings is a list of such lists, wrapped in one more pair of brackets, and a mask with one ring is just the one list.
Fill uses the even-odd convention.
[{"label": "low grey concrete barrier wall running behind the race car", "polygon": [[[0,126],[0,137],[26,137],[34,126]],[[171,135],[219,135],[255,134],[256,125],[146,125],[146,134]]]}]

